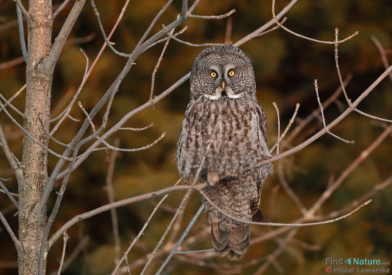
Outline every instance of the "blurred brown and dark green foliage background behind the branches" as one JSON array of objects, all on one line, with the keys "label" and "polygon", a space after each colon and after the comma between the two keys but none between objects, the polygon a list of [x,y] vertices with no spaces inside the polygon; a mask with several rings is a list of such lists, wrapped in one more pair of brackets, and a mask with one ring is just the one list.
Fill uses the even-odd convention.
[{"label": "blurred brown and dark green foliage background behind the branches", "polygon": [[[27,1],[24,2],[27,5]],[[277,0],[276,13],[288,2],[288,0]],[[54,6],[58,6],[60,3],[59,0],[53,1]],[[124,0],[96,1],[106,33],[109,33],[116,22],[123,3]],[[111,39],[116,43],[116,49],[122,52],[131,52],[152,18],[165,3],[165,0],[131,0],[123,20]],[[155,24],[151,33],[158,31],[162,24],[168,25],[172,22],[176,14],[179,13],[180,6],[181,1],[175,0]],[[55,19],[52,40],[59,32],[71,7],[72,3],[68,4]],[[271,18],[271,2],[268,0],[202,0],[194,14],[217,15],[226,13],[232,8],[236,9],[232,15],[231,41],[233,42],[265,24]],[[341,39],[354,31],[359,31],[359,35],[339,46],[339,61],[343,78],[348,74],[353,75],[346,88],[349,97],[353,100],[384,71],[380,54],[371,41],[370,35],[374,35],[380,40],[384,48],[387,49],[387,56],[392,62],[392,6],[390,0],[300,0],[286,16],[288,17],[285,23],[286,27],[316,39],[334,40],[335,27],[340,28],[339,37]],[[11,27],[4,27],[7,22],[15,21],[15,19],[15,3],[11,0],[0,1],[0,63],[21,56],[17,26],[14,24]],[[188,25],[188,30],[179,38],[185,41],[192,43],[223,43],[224,41],[226,19],[189,19],[182,26],[184,25]],[[177,30],[179,29],[180,27],[177,28]],[[86,2],[70,35],[70,39],[83,37],[86,38],[84,43],[70,43],[64,48],[56,65],[52,87],[52,117],[59,114],[68,104],[81,82],[85,59],[79,48],[85,50],[91,64],[103,43],[97,19],[89,1]],[[136,60],[136,65],[125,77],[116,95],[109,116],[109,127],[117,123],[125,113],[148,100],[151,73],[162,47],[163,44],[155,46]],[[278,29],[252,39],[241,46],[241,49],[249,56],[254,66],[258,99],[265,108],[269,121],[269,146],[272,146],[277,138],[276,113],[271,104],[272,101],[275,101],[279,107],[281,128],[284,128],[294,112],[296,102],[301,103],[298,118],[305,118],[318,108],[313,84],[315,78],[319,82],[321,101],[326,100],[339,86],[333,45],[310,42]],[[170,41],[156,75],[154,94],[158,95],[188,73],[193,60],[201,50],[202,48],[189,47]],[[90,110],[104,94],[122,70],[125,62],[126,59],[115,55],[111,50],[104,50],[78,99],[87,110]],[[0,92],[6,98],[12,96],[24,83],[24,63],[0,70]],[[391,87],[392,83],[387,77],[360,104],[359,109],[391,119]],[[133,117],[126,124],[127,126],[141,127],[154,123],[153,127],[142,132],[121,131],[115,135],[121,139],[122,148],[137,148],[149,144],[162,132],[167,132],[165,138],[151,149],[121,153],[113,178],[116,200],[168,187],[176,182],[178,179],[174,161],[176,142],[188,100],[189,81],[156,104],[154,109],[149,108]],[[338,100],[343,105],[336,102],[324,111],[327,123],[336,118],[341,113],[342,106],[345,106],[342,95]],[[24,93],[14,103],[23,111]],[[10,112],[15,117],[18,116],[12,110]],[[94,120],[96,125],[101,122],[102,114]],[[82,111],[77,106],[73,107],[71,115],[76,119],[84,119]],[[17,118],[19,122],[22,122],[21,117]],[[22,132],[3,113],[0,113],[0,123],[10,148],[21,159]],[[81,122],[66,120],[54,137],[68,143],[80,125]],[[297,122],[293,127],[295,125]],[[321,122],[313,120],[292,142],[292,146],[310,137],[321,126]],[[355,144],[345,144],[332,136],[325,135],[306,149],[283,160],[289,183],[305,207],[310,207],[319,198],[327,186],[328,178],[331,175],[335,178],[339,176],[382,130],[379,123],[352,113],[336,126],[333,132],[345,139],[355,140]],[[111,144],[113,141],[114,137],[109,138]],[[50,146],[57,152],[63,150],[53,142],[50,142]],[[391,151],[392,142],[389,137],[344,181],[342,187],[325,202],[317,214],[325,215],[342,208],[390,176]],[[73,216],[108,202],[105,189],[108,167],[105,158],[107,155],[108,153],[105,151],[94,152],[73,172],[56,221],[53,223],[52,232]],[[3,153],[1,153],[0,163],[0,176],[2,178],[11,177],[11,180],[6,181],[5,184],[11,192],[17,192],[15,177]],[[55,163],[56,158],[49,156],[49,173]],[[57,182],[55,187],[59,188],[59,184],[60,182]],[[267,221],[292,222],[301,214],[282,188],[276,189],[275,199],[271,201],[273,189],[277,185],[279,185],[279,180],[276,175],[265,182],[261,208]],[[348,258],[355,256],[392,262],[391,195],[392,188],[389,187],[376,194],[370,205],[345,220],[329,225],[300,228],[295,238],[319,248],[307,250],[294,242],[278,258],[278,262],[288,274],[293,275],[324,274],[326,257]],[[182,196],[182,193],[171,194],[169,200],[165,202],[166,207],[156,213],[145,234],[137,243],[138,245],[128,256],[131,264],[152,251],[172,218],[172,209],[178,206]],[[52,208],[54,198],[53,194],[49,200],[48,209]],[[117,210],[122,253],[137,235],[157,201],[158,199],[146,200]],[[0,194],[0,209],[6,213],[10,225],[16,230],[17,218],[13,217],[16,210],[10,204],[6,196]],[[185,228],[191,220],[199,204],[199,195],[195,193],[185,210],[182,228]],[[198,224],[191,231],[191,235],[195,235],[207,224],[206,215],[202,214]],[[273,228],[252,227],[252,236],[262,235],[271,229]],[[109,212],[74,225],[68,230],[68,234],[71,238],[68,241],[67,255],[70,255],[79,243],[81,235],[89,235],[90,240],[83,252],[64,274],[103,275],[113,270],[114,245]],[[270,240],[252,246],[240,263],[268,255],[277,247],[276,241]],[[0,263],[8,262],[10,266],[16,265],[16,262],[13,262],[16,259],[16,250],[2,227],[0,229],[0,247]],[[50,250],[48,272],[58,268],[61,248],[62,241],[59,240]],[[209,238],[198,243],[192,249],[208,248],[211,248]],[[228,263],[226,258],[213,258],[211,261]],[[176,265],[171,273],[173,275],[218,274],[218,271],[211,268],[190,266],[189,263],[178,259],[173,259],[172,263]],[[237,263],[229,262],[228,264]],[[252,274],[257,268],[258,265],[251,266],[245,269],[242,274]],[[0,274],[16,273],[17,269],[15,268],[0,269]],[[276,274],[276,270],[270,267],[266,274]]]}]

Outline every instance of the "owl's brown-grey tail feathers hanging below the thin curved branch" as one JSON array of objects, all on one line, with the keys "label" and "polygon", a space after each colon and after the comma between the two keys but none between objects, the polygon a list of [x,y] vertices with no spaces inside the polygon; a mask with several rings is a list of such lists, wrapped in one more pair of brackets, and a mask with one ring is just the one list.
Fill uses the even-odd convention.
[{"label": "owl's brown-grey tail feathers hanging below the thin curved branch", "polygon": [[218,218],[211,221],[212,245],[222,257],[229,260],[240,260],[249,248],[249,225],[235,226],[233,230],[224,231],[219,228]]}]

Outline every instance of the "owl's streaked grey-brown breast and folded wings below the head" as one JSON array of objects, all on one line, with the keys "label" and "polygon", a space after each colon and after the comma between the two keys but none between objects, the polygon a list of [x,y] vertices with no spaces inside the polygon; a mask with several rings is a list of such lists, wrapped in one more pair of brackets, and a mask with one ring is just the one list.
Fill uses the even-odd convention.
[{"label": "owl's streaked grey-brown breast and folded wings below the head", "polygon": [[[185,181],[192,182],[211,142],[201,176],[205,176],[206,171],[237,174],[243,167],[255,166],[260,160],[271,157],[266,136],[265,114],[257,101],[191,100],[178,142],[179,172]],[[266,176],[263,174],[270,172],[257,170],[260,170],[257,174],[261,180]]]}]

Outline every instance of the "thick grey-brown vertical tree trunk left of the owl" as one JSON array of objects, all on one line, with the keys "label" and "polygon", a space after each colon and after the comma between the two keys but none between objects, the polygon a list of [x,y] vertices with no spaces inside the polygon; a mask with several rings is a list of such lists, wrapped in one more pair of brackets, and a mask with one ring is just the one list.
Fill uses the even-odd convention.
[{"label": "thick grey-brown vertical tree trunk left of the owl", "polygon": [[[26,102],[24,127],[31,135],[48,145],[52,72],[40,69],[39,61],[49,54],[52,32],[51,0],[29,0],[27,19],[28,60],[26,66]],[[42,124],[40,119],[42,120]],[[45,130],[44,130],[45,128]],[[23,140],[22,168],[25,184],[19,183],[19,274],[37,275],[38,259],[46,222],[46,208],[35,213],[41,199],[48,171],[48,152],[27,135]],[[44,264],[46,266],[46,264]],[[45,270],[46,268],[44,268]],[[44,272],[45,274],[45,272]]]}]

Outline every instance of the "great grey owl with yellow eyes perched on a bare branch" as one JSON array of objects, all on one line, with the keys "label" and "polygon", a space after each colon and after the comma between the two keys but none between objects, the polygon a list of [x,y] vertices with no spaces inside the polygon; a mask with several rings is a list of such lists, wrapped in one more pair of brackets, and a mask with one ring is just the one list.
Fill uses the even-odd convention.
[{"label": "great grey owl with yellow eyes perched on a bare branch", "polygon": [[[181,177],[191,184],[205,156],[199,174],[208,183],[204,194],[233,217],[260,221],[261,188],[272,165],[241,171],[271,157],[266,143],[267,119],[256,98],[249,58],[233,46],[203,50],[192,67],[191,98],[178,141]],[[249,224],[228,218],[202,199],[213,247],[230,260],[241,259],[249,247]]]}]

